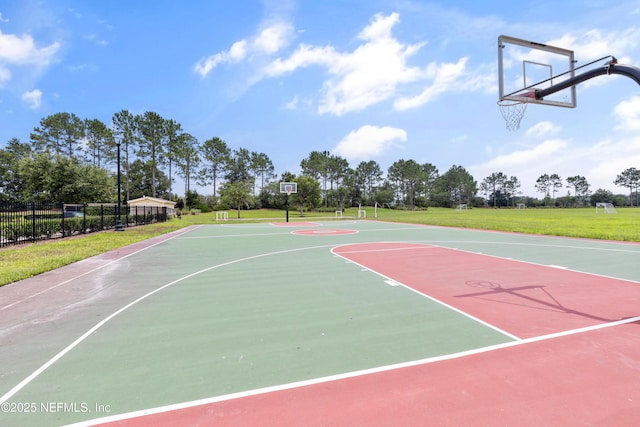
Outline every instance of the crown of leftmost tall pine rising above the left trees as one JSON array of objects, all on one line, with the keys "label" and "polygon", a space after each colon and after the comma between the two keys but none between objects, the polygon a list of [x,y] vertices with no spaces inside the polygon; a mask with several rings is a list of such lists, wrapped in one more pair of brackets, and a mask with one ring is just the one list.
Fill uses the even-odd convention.
[{"label": "crown of leftmost tall pine rising above the left trees", "polygon": [[31,142],[34,151],[77,157],[82,152],[84,122],[73,113],[56,113],[40,120],[33,129]]}]

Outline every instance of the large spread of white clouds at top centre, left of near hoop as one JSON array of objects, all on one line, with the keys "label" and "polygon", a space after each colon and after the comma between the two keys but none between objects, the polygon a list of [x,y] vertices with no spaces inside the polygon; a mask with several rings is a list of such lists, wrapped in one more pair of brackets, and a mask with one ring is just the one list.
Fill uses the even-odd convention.
[{"label": "large spread of white clouds at top centre, left of near hoop", "polygon": [[[342,116],[362,111],[382,101],[398,96],[394,107],[398,110],[417,108],[451,90],[487,90],[495,86],[489,73],[470,73],[466,70],[467,57],[455,62],[432,62],[426,66],[412,66],[409,60],[425,42],[407,44],[393,35],[400,22],[398,13],[376,14],[358,34],[360,43],[351,51],[339,51],[334,46],[316,46],[301,43],[289,55],[274,59],[264,66],[253,83],[261,78],[274,78],[293,73],[301,68],[319,66],[328,77],[322,83],[317,102],[319,114]],[[277,25],[261,31],[253,40],[242,41],[246,49],[237,49],[242,55],[232,55],[233,49],[203,58],[195,66],[196,72],[206,76],[222,63],[248,60],[252,55],[270,55],[287,46],[292,27]],[[238,42],[240,43],[240,42]],[[424,83],[426,82],[426,83]],[[420,86],[416,86],[420,84]],[[409,87],[413,85],[413,87]],[[417,95],[407,95],[419,91]]]}]

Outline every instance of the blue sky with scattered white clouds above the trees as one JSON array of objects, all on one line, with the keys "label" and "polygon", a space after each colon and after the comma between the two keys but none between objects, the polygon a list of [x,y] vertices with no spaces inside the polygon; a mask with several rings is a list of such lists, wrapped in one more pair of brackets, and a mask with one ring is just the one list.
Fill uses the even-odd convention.
[{"label": "blue sky with scattered white clouds above the trees", "polygon": [[326,150],[385,172],[460,165],[478,184],[503,172],[538,198],[545,173],[628,193],[613,181],[640,168],[640,86],[598,77],[577,108],[529,105],[509,131],[501,34],[573,50],[578,66],[640,67],[640,0],[3,0],[0,146],[58,112],[110,125],[154,111],[267,154],[278,175]]}]

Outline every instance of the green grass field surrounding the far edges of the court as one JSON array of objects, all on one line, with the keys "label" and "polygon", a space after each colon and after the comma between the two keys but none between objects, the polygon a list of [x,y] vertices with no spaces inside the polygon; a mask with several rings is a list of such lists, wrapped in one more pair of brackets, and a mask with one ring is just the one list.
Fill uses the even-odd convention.
[{"label": "green grass field surrounding the far edges of the court", "polygon": [[[364,209],[367,219],[445,227],[499,230],[551,236],[640,242],[640,208],[619,208],[617,214],[586,209],[489,209],[467,211],[431,208],[421,211]],[[254,210],[229,212],[229,222],[284,221],[284,211]],[[357,218],[358,209],[343,212],[343,219]],[[289,212],[290,221],[335,220],[332,212],[310,212],[300,216]],[[214,224],[215,213],[183,215],[180,220],[128,228],[125,232],[105,231],[70,239],[51,240],[0,250],[0,286],[26,279],[100,253],[130,245],[195,224]],[[222,222],[218,222],[222,223]]]}]

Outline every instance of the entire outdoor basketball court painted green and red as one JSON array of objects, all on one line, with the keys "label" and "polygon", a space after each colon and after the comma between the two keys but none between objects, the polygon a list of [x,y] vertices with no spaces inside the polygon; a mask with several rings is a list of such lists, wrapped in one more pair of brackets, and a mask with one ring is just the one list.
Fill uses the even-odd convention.
[{"label": "entire outdoor basketball court painted green and red", "polygon": [[191,227],[0,288],[3,426],[635,425],[640,245]]}]

